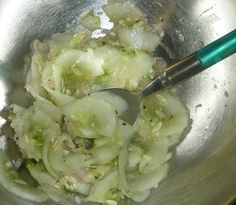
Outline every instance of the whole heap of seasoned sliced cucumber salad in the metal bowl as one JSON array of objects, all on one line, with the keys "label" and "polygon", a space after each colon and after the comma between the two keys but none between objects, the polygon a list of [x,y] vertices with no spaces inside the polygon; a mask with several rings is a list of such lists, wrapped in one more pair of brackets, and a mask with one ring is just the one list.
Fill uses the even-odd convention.
[{"label": "whole heap of seasoned sliced cucumber salad in the metal bowl", "polygon": [[[124,1],[103,7],[113,28],[100,28],[94,11],[81,15],[83,30],[32,43],[25,88],[30,107],[12,106],[11,127],[30,180],[1,151],[0,182],[9,192],[43,202],[116,205],[128,197],[143,202],[168,175],[170,147],[181,139],[188,112],[170,91],[144,100],[131,126],[119,118],[128,108],[109,87],[139,91],[153,67],[163,32]],[[99,36],[94,34],[99,33]]]}]

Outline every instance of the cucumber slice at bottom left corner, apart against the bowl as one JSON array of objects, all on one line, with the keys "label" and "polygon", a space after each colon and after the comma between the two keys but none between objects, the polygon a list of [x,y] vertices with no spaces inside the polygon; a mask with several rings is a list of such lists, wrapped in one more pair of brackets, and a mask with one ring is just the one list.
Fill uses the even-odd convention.
[{"label": "cucumber slice at bottom left corner, apart against the bowl", "polygon": [[[48,197],[37,187],[31,187],[19,178],[16,171],[8,167],[10,161],[6,154],[0,151],[0,183],[10,193],[34,202],[47,201]],[[10,163],[11,164],[11,163]],[[21,183],[19,183],[21,182]]]}]

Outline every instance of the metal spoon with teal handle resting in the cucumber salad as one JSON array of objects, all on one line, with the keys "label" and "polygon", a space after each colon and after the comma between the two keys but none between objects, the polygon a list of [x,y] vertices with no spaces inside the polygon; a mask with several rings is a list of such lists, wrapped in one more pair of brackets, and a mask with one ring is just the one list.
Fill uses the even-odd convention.
[{"label": "metal spoon with teal handle resting in the cucumber salad", "polygon": [[126,100],[129,108],[120,116],[122,120],[134,125],[138,119],[140,106],[145,97],[152,93],[190,78],[236,52],[236,30],[185,57],[168,67],[148,84],[140,93],[132,93],[122,88],[108,88],[109,91]]}]

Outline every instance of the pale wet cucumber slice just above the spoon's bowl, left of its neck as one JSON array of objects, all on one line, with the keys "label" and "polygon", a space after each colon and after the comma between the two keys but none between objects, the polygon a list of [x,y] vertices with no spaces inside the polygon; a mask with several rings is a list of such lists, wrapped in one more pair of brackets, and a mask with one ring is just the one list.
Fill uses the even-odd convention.
[{"label": "pale wet cucumber slice just above the spoon's bowl, left of its neck", "polygon": [[95,50],[104,59],[106,75],[100,81],[107,87],[122,87],[136,90],[144,77],[153,73],[154,58],[141,51],[132,52],[104,46]]}]

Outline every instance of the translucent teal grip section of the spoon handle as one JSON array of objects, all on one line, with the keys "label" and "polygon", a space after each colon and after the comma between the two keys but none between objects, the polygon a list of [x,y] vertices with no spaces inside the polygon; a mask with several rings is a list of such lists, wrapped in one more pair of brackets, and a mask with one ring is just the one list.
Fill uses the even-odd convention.
[{"label": "translucent teal grip section of the spoon handle", "polygon": [[206,69],[236,53],[236,30],[197,51],[196,57]]}]

